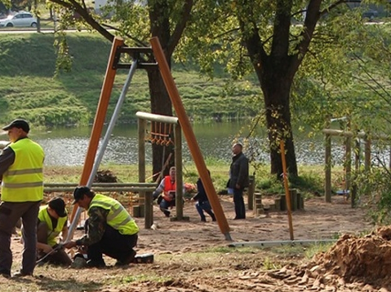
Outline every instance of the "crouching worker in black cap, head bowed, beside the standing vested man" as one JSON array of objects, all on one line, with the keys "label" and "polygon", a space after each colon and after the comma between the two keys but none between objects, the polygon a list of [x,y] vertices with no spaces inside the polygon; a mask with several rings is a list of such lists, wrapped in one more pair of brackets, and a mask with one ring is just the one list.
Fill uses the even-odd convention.
[{"label": "crouching worker in black cap, head bowed, beside the standing vested man", "polygon": [[41,206],[38,213],[38,262],[64,266],[72,264],[63,245],[57,242],[60,234],[63,239],[68,236],[68,216],[64,200],[53,198],[47,205]]}]

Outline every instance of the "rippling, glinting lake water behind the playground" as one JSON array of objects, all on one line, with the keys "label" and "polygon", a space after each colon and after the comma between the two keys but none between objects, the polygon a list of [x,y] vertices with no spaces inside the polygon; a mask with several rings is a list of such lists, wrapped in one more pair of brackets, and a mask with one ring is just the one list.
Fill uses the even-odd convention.
[{"label": "rippling, glinting lake water behind the playground", "polygon": [[[214,122],[193,124],[193,131],[198,140],[204,158],[212,157],[224,161],[231,160],[231,145],[233,139],[241,133],[239,141],[248,135],[248,128],[244,122]],[[104,137],[104,132],[102,137]],[[63,127],[52,131],[37,132],[32,129],[30,137],[42,145],[45,150],[45,165],[48,166],[78,166],[82,165],[87,153],[91,127]],[[118,125],[113,129],[110,141],[105,150],[102,164],[136,164],[137,163],[137,125]],[[0,136],[0,140],[7,140],[7,135]],[[267,145],[264,131],[257,133],[253,139],[257,150],[256,159],[265,164],[269,164],[269,154],[263,151]],[[186,140],[182,134],[182,152],[184,163],[190,161]],[[344,147],[342,140],[332,139],[332,163],[334,165],[343,164]],[[163,147],[163,146],[162,146]],[[295,147],[297,163],[299,165],[323,165],[324,164],[324,137],[318,135],[317,138],[309,139],[305,134],[295,133]],[[151,147],[146,147],[146,160],[151,163]],[[246,149],[244,149],[246,153]],[[247,151],[247,155],[251,154]]]}]

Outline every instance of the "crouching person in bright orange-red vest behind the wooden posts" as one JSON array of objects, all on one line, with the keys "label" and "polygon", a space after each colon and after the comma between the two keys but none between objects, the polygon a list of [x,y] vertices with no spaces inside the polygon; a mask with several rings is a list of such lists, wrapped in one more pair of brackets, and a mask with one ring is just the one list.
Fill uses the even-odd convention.
[{"label": "crouching person in bright orange-red vest behind the wooden posts", "polygon": [[[175,173],[175,167],[171,167],[170,175],[165,176],[153,192],[153,200],[157,199],[160,211],[162,211],[166,217],[170,217],[171,212],[169,211],[169,208],[175,206],[175,190],[177,188]],[[159,197],[160,193],[162,193],[162,196]]]}]

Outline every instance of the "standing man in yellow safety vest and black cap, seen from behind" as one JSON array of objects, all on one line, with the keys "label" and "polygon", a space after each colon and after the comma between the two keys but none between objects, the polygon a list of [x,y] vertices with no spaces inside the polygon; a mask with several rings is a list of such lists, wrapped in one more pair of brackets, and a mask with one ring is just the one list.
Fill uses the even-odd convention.
[{"label": "standing man in yellow safety vest and black cap, seen from behind", "polygon": [[0,155],[2,202],[0,204],[0,274],[11,276],[11,234],[22,218],[22,266],[14,276],[33,275],[37,248],[37,217],[43,199],[42,147],[30,140],[30,125],[16,119],[3,127],[11,143]]}]

